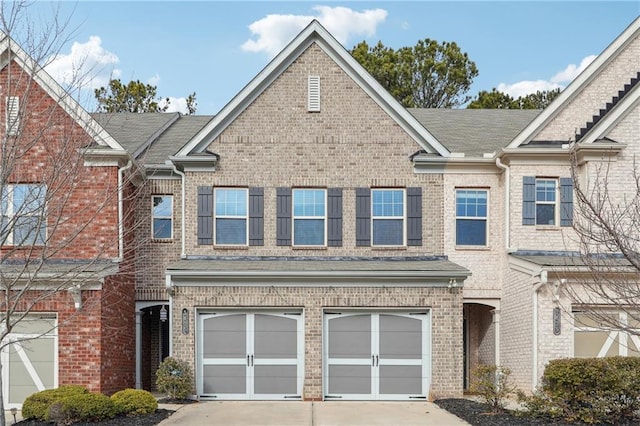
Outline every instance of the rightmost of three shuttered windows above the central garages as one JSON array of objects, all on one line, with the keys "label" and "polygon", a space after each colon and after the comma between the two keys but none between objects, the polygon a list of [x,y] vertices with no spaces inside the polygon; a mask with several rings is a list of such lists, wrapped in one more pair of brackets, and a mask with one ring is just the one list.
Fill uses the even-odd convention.
[{"label": "rightmost of three shuttered windows above the central garages", "polygon": [[404,245],[404,190],[371,190],[372,244]]}]

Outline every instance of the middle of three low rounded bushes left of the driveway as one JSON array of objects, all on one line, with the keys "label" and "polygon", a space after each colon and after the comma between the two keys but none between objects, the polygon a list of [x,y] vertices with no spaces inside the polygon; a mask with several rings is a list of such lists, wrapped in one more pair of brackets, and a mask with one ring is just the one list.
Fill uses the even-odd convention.
[{"label": "middle of three low rounded bushes left of the driveway", "polygon": [[56,424],[96,422],[117,414],[116,405],[100,393],[78,393],[56,401],[49,407],[49,419]]}]

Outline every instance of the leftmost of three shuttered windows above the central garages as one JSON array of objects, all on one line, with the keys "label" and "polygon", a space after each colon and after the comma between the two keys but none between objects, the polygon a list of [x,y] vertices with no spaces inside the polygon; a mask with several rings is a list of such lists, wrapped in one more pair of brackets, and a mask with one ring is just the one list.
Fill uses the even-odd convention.
[{"label": "leftmost of three shuttered windows above the central garages", "polygon": [[218,245],[247,244],[248,196],[245,188],[215,188],[214,227]]}]

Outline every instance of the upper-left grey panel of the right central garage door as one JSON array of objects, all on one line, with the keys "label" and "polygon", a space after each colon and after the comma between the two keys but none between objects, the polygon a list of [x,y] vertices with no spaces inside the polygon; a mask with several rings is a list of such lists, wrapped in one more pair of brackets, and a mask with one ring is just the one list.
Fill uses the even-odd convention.
[{"label": "upper-left grey panel of the right central garage door", "polygon": [[371,315],[329,320],[330,358],[371,358]]}]

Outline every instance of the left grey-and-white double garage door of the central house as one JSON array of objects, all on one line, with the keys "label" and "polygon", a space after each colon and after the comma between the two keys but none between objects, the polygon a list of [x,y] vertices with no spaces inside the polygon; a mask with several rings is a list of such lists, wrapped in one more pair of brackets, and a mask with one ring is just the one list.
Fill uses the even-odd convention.
[{"label": "left grey-and-white double garage door of the central house", "polygon": [[198,394],[215,399],[301,399],[301,312],[199,314]]}]

